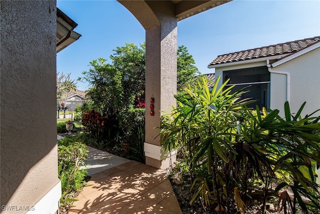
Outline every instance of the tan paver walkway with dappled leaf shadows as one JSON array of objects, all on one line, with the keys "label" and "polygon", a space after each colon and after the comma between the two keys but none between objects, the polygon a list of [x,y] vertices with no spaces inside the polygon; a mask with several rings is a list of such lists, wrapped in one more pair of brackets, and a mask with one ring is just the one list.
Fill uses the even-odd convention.
[{"label": "tan paver walkway with dappled leaf shadows", "polygon": [[182,213],[165,171],[90,147],[88,150],[91,178],[67,214]]}]

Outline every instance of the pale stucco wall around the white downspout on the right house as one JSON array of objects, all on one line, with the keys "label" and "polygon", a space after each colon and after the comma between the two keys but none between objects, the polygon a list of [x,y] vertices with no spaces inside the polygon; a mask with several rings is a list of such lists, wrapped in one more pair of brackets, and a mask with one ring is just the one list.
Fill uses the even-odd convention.
[{"label": "pale stucco wall around the white downspout on the right house", "polygon": [[[275,71],[290,73],[290,110],[296,113],[304,101],[302,116],[320,109],[320,48],[281,64]],[[271,107],[283,114],[286,76],[271,74]],[[318,116],[320,113],[317,113]]]}]

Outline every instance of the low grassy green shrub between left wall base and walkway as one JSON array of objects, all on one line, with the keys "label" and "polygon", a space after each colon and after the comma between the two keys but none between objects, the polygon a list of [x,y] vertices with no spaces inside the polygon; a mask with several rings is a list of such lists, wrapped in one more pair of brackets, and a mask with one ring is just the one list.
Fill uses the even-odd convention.
[{"label": "low grassy green shrub between left wall base and walkway", "polygon": [[78,137],[69,137],[58,143],[58,177],[61,180],[61,206],[74,201],[74,193],[85,184],[84,177],[87,169],[85,166],[87,157],[86,145]]}]

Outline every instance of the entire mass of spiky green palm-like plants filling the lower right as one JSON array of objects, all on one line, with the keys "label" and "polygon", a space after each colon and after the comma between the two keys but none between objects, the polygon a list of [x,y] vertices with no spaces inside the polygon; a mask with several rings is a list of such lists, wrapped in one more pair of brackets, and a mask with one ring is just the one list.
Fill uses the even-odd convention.
[{"label": "entire mass of spiky green palm-like plants filling the lower right", "polygon": [[297,206],[302,213],[319,210],[317,112],[302,117],[304,103],[291,114],[287,102],[283,118],[279,110],[248,109],[252,101],[240,99],[245,89],[232,94],[232,86],[225,82],[218,88],[218,81],[211,92],[203,79],[175,95],[177,107],[158,127],[162,145],[180,156],[173,178],[190,178],[190,204],[200,201],[218,213],[245,213],[259,198],[264,213],[266,201],[280,194],[279,211],[296,213]]}]

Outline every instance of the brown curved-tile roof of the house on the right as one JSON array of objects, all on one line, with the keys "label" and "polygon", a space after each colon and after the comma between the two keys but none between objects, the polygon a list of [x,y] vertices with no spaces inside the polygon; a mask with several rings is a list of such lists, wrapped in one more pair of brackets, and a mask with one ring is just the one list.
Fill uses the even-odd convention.
[{"label": "brown curved-tile roof of the house on the right", "polygon": [[291,54],[317,42],[320,42],[320,36],[219,55],[209,64],[209,66],[281,54]]}]

